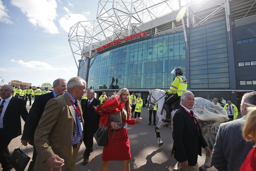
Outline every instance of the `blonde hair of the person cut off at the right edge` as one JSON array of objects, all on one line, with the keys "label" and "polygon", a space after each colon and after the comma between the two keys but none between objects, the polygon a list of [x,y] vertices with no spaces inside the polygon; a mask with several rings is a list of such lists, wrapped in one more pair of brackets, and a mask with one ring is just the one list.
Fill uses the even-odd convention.
[{"label": "blonde hair of the person cut off at the right edge", "polygon": [[247,111],[249,112],[246,115],[246,121],[242,134],[245,141],[256,142],[256,106],[248,107]]}]

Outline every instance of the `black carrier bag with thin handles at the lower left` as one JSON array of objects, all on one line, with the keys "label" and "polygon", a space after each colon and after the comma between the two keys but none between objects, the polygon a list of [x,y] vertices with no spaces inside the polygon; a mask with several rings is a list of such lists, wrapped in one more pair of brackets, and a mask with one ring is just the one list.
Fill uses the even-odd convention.
[{"label": "black carrier bag with thin handles at the lower left", "polygon": [[24,171],[30,160],[30,157],[23,153],[21,149],[14,149],[12,156],[9,160],[10,165],[17,171]]}]

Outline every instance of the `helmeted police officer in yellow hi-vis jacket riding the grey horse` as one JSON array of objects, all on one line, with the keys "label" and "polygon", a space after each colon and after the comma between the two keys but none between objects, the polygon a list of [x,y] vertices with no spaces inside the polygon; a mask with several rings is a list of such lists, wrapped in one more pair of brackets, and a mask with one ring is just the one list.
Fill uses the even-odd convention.
[{"label": "helmeted police officer in yellow hi-vis jacket riding the grey horse", "polygon": [[187,91],[187,80],[182,76],[183,75],[183,69],[182,68],[174,68],[171,72],[172,74],[175,74],[175,79],[172,82],[172,85],[170,86],[170,89],[165,93],[174,93],[169,99],[165,101],[165,111],[166,111],[166,119],[165,122],[171,123],[171,109],[170,105],[177,100],[180,100],[180,96],[183,92]]}]

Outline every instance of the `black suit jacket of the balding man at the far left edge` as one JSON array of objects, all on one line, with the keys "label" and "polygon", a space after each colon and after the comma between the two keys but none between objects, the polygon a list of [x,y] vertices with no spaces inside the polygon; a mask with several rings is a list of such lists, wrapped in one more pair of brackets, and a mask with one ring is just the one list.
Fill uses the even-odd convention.
[{"label": "black suit jacket of the balding man at the far left edge", "polygon": [[21,135],[20,116],[25,121],[27,117],[27,108],[25,100],[12,97],[3,117],[4,135],[1,139],[11,140]]}]

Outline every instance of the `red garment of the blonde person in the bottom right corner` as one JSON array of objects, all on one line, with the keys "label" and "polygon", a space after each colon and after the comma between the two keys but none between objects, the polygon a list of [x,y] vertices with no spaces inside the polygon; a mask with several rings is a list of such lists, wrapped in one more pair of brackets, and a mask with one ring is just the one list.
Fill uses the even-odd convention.
[{"label": "red garment of the blonde person in the bottom right corner", "polygon": [[256,147],[252,148],[246,159],[244,160],[239,171],[255,171],[256,170]]}]

